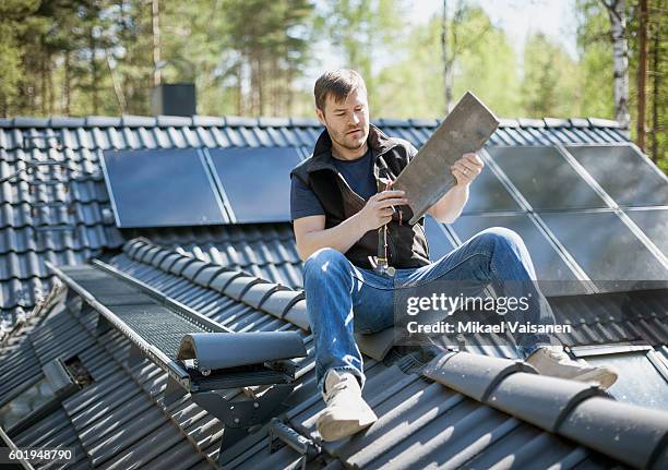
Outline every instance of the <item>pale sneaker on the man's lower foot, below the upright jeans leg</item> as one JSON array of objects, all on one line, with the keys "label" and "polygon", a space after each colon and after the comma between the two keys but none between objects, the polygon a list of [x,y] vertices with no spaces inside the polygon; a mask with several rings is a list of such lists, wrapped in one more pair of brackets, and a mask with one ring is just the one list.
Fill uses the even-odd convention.
[{"label": "pale sneaker on the man's lower foot, below the upright jeans leg", "polygon": [[325,375],[323,399],[327,407],[315,423],[323,441],[336,441],[373,424],[378,417],[361,396],[357,377],[330,369]]}]

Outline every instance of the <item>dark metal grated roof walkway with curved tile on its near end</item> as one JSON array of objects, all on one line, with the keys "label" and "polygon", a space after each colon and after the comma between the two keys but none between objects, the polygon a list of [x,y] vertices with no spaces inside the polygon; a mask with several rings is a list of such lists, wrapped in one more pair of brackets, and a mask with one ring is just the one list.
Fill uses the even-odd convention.
[{"label": "dark metal grated roof walkway with curved tile on its near end", "polygon": [[[142,281],[96,260],[93,264],[48,264],[97,313],[97,333],[116,328],[132,344],[129,365],[151,360],[167,372],[165,403],[190,394],[224,424],[224,449],[287,409],[297,364],[307,357],[296,332],[235,333],[163,296]],[[228,398],[218,390],[241,388]]]}]

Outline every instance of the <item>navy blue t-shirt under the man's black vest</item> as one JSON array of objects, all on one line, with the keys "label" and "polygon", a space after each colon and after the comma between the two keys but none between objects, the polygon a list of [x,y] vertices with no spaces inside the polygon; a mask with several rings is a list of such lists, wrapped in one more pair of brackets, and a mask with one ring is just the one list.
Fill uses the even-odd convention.
[{"label": "navy blue t-shirt under the man's black vest", "polygon": [[[339,160],[337,158],[332,158],[332,160],[350,189],[365,201],[378,192],[375,179],[373,178],[371,147],[369,147],[362,157],[356,160]],[[320,201],[318,201],[315,193],[302,183],[299,178],[293,177],[291,180],[290,215],[293,220],[309,216],[324,216],[325,212]]]}]

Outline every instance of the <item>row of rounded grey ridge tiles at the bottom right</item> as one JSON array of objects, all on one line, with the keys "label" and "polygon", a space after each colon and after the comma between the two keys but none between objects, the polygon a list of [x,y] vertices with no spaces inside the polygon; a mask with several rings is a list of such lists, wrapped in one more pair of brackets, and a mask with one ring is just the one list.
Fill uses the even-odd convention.
[{"label": "row of rounded grey ridge tiles at the bottom right", "polygon": [[522,361],[469,352],[438,355],[422,375],[633,467],[668,466],[660,454],[668,412],[616,401],[591,384],[539,375]]}]

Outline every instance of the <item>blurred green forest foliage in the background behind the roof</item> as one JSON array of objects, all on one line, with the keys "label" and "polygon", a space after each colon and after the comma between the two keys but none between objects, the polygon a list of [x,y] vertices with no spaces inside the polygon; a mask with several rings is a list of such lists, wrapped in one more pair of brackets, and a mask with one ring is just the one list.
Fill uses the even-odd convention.
[{"label": "blurred green forest foliage in the background behind the roof", "polygon": [[[661,14],[667,2],[649,2],[646,116],[648,153],[664,169],[668,55],[667,43],[656,39],[668,36]],[[639,22],[635,2],[627,3],[635,121]],[[313,116],[312,79],[306,76],[331,67],[335,55],[365,76],[372,117],[443,117],[442,19],[439,12],[424,24],[407,22],[418,1],[158,0],[158,5],[162,80],[194,81],[199,113]],[[613,118],[610,22],[601,0],[575,1],[576,59],[540,34],[527,38],[518,58],[485,10],[473,1],[455,7],[448,23],[455,101],[469,89],[502,117]],[[522,14],[517,5],[504,8]],[[152,20],[150,0],[2,0],[0,115],[150,115],[156,70]]]}]

